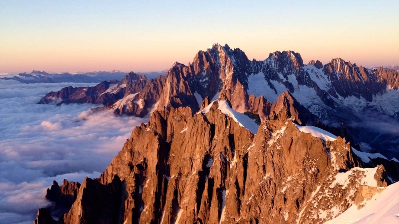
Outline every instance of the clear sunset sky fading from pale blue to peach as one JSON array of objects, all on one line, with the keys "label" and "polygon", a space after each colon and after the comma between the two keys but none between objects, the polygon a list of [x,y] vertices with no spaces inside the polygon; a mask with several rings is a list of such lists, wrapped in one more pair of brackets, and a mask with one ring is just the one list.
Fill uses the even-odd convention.
[{"label": "clear sunset sky fading from pale blue to peach", "polygon": [[0,1],[0,72],[160,71],[213,43],[399,64],[399,2]]}]

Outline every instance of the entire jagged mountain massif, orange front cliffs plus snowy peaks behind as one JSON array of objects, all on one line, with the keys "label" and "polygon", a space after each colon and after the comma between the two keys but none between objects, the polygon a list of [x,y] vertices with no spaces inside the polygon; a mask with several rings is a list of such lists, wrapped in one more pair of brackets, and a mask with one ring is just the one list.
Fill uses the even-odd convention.
[{"label": "entire jagged mountain massif, orange front cliffs plus snowy peaks behind", "polygon": [[[51,215],[58,223],[351,218],[340,214],[370,207],[397,185],[399,133],[371,125],[398,122],[398,88],[394,69],[342,58],[304,64],[293,51],[249,60],[215,44],[153,79],[130,72],[119,82],[47,93],[39,103],[151,117],[98,179],[53,183],[46,197],[54,206],[40,209],[35,223],[56,223]],[[358,220],[372,216],[363,213]]]}]

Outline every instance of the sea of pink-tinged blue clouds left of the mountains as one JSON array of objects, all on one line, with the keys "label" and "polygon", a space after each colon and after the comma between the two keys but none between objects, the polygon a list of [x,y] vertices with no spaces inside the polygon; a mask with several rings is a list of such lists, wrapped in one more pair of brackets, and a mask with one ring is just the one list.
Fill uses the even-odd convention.
[{"label": "sea of pink-tinged blue clouds left of the mountains", "polygon": [[37,104],[46,93],[87,83],[0,81],[0,223],[29,223],[49,205],[53,180],[99,177],[133,128],[148,118],[92,113],[92,104]]}]

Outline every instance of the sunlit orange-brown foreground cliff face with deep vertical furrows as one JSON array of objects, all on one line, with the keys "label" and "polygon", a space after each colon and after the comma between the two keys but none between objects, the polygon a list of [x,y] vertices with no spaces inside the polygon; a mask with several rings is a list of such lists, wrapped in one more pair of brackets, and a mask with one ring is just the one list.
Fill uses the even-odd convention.
[{"label": "sunlit orange-brown foreground cliff face with deep vertical furrows", "polygon": [[253,134],[220,103],[155,111],[98,180],[85,179],[60,222],[321,223],[354,204],[360,185],[386,186],[383,166],[357,167],[345,139],[301,131],[298,113]]}]

